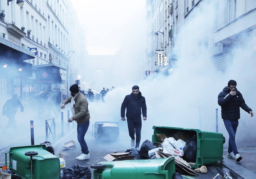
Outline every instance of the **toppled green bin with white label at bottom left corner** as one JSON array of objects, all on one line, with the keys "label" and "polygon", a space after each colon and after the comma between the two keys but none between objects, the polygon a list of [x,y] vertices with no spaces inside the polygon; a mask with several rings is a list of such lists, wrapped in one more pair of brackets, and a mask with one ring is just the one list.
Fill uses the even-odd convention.
[{"label": "toppled green bin with white label at bottom left corner", "polygon": [[[59,158],[45,149],[45,145],[11,147],[10,151],[5,153],[5,163],[7,163],[7,154],[9,154],[9,169],[23,179],[29,179],[31,178],[30,159],[32,157],[32,178],[59,179]],[[25,155],[29,152],[37,155]]]}]

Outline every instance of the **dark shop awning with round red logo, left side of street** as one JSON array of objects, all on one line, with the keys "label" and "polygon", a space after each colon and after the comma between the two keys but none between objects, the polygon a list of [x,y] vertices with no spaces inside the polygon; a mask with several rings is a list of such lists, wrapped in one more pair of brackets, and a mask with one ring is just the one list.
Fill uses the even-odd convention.
[{"label": "dark shop awning with round red logo, left side of street", "polygon": [[35,65],[34,67],[36,67],[35,81],[37,83],[62,84],[62,79],[59,71],[59,69],[61,68],[60,66],[49,63],[45,65]]}]

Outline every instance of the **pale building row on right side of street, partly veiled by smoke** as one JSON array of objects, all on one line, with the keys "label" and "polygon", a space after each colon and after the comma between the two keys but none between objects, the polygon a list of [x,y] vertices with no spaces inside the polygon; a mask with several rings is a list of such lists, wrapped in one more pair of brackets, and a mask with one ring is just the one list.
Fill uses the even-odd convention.
[{"label": "pale building row on right side of street, partly veiled by smoke", "polygon": [[[211,6],[205,6],[205,4]],[[151,63],[152,71],[165,72],[175,66],[176,60],[179,60],[181,55],[177,54],[177,48],[180,48],[177,46],[178,36],[191,20],[196,19],[197,16],[205,16],[203,13],[201,15],[198,13],[204,8],[208,8],[204,9],[206,12],[212,13],[212,19],[209,19],[212,22],[211,27],[208,28],[210,30],[205,35],[206,38],[199,43],[204,44],[209,51],[215,70],[221,73],[226,71],[232,61],[232,49],[239,43],[251,44],[251,50],[255,53],[256,1],[254,0],[148,0],[146,8],[148,12],[147,63]],[[171,12],[170,15],[168,11]],[[200,18],[207,18],[207,16]],[[194,25],[205,28],[205,24]],[[193,29],[193,24],[189,28]],[[158,36],[153,35],[155,32],[158,32]],[[248,40],[246,37],[251,38]],[[157,65],[158,57],[155,52],[157,48],[165,50],[165,54],[169,57],[169,67]]]}]

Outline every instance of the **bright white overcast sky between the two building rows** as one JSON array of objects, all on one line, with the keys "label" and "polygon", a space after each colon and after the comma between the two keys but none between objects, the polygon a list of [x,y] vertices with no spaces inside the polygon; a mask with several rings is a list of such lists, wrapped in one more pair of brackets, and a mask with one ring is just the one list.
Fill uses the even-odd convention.
[{"label": "bright white overcast sky between the two building rows", "polygon": [[86,31],[89,55],[114,55],[120,50],[126,31],[145,16],[146,0],[73,1]]}]

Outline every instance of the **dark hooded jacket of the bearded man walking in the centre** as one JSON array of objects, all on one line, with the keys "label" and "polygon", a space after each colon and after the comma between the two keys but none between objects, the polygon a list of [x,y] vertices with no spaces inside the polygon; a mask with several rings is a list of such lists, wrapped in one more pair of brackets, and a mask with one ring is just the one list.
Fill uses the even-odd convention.
[{"label": "dark hooded jacket of the bearded man walking in the centre", "polygon": [[125,108],[127,119],[138,118],[141,114],[143,117],[147,117],[146,100],[140,91],[137,96],[134,96],[133,93],[125,96],[121,105],[121,117],[125,117]]}]

